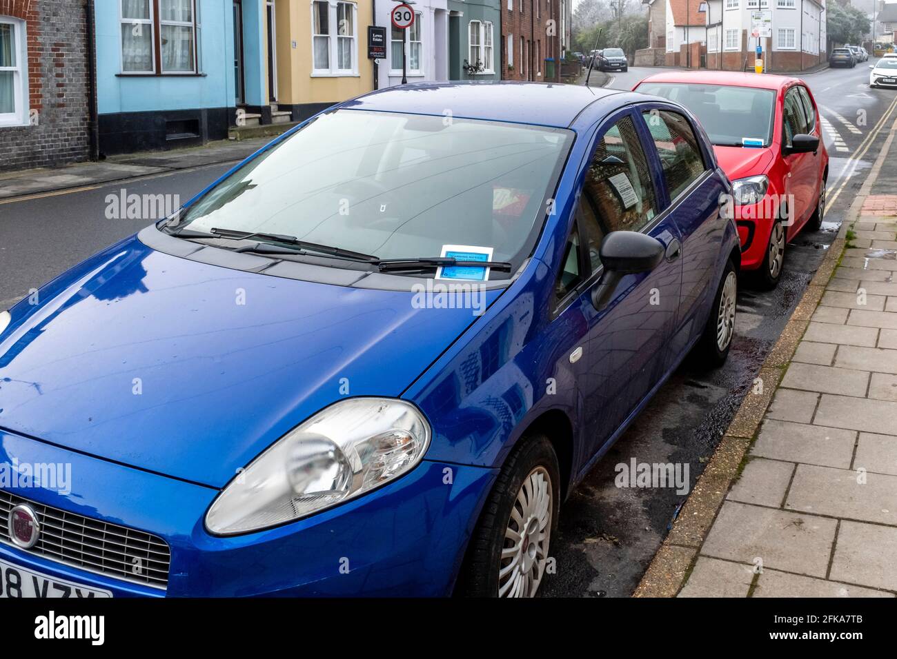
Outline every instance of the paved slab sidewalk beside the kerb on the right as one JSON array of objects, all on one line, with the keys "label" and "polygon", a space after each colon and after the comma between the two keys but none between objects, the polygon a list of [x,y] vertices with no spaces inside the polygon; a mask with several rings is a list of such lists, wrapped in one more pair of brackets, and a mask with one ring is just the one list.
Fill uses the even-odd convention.
[{"label": "paved slab sidewalk beside the kerb on the right", "polygon": [[887,169],[680,597],[897,592],[897,196],[875,194]]}]

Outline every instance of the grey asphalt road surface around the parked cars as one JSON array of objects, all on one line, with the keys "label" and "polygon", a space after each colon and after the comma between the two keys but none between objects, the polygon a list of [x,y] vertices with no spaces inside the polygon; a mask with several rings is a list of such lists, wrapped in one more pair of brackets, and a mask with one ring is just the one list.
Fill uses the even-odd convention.
[{"label": "grey asphalt road surface around the parked cars", "polygon": [[[628,89],[657,71],[633,67],[614,74],[608,86]],[[545,595],[626,596],[638,585],[685,497],[671,489],[617,488],[614,465],[629,463],[632,457],[645,463],[688,464],[692,484],[701,473],[884,142],[886,130],[876,133],[876,125],[893,109],[895,91],[869,90],[867,74],[867,66],[858,65],[806,76],[828,122],[823,127],[831,156],[830,204],[823,229],[802,233],[788,246],[777,290],[741,291],[736,340],[727,365],[710,373],[687,365],[679,369],[572,494],[553,538],[557,574],[546,579]],[[128,194],[179,195],[186,201],[226,169],[228,165],[217,165],[0,202],[0,309],[148,223],[108,219],[109,195],[125,188]]]}]

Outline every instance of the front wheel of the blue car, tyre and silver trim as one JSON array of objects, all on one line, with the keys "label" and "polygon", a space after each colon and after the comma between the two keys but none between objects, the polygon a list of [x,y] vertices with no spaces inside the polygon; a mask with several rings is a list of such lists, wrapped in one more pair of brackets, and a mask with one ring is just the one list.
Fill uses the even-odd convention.
[{"label": "front wheel of the blue car, tyre and silver trim", "polygon": [[536,596],[557,531],[560,501],[561,473],[551,442],[543,434],[524,436],[483,506],[457,594]]}]

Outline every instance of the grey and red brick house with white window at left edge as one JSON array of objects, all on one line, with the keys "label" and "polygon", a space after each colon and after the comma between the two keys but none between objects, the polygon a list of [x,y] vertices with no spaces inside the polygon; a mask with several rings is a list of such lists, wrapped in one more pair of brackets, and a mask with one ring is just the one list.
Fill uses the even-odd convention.
[{"label": "grey and red brick house with white window at left edge", "polygon": [[0,0],[0,170],[91,157],[87,0]]}]

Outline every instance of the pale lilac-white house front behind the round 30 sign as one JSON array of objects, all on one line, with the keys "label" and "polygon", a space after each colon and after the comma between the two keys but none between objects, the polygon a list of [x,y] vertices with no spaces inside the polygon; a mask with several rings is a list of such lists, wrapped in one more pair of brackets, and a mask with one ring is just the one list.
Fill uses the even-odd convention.
[{"label": "pale lilac-white house front behind the round 30 sign", "polygon": [[[387,58],[378,66],[379,89],[402,82],[402,30],[395,30],[389,13],[398,2],[379,0],[376,21],[387,28]],[[415,0],[417,15],[407,30],[408,82],[448,80],[448,2]]]}]

